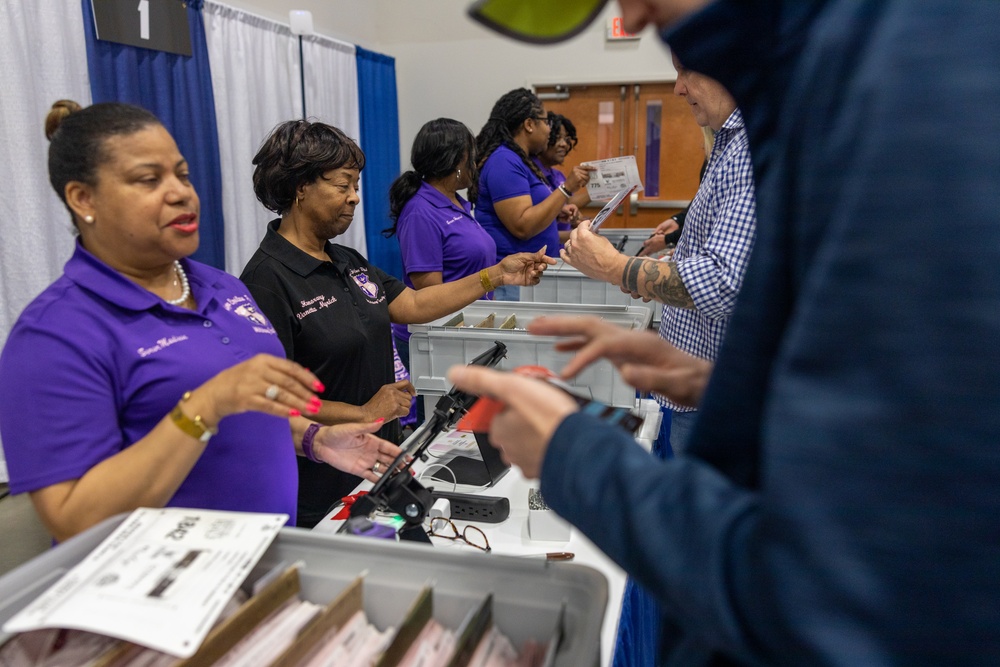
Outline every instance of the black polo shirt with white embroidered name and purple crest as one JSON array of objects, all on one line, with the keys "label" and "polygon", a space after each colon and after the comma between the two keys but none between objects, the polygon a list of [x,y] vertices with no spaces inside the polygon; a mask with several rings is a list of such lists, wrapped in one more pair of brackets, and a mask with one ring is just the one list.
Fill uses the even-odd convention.
[{"label": "black polo shirt with white embroidered name and purple crest", "polygon": [[[320,261],[278,234],[279,223],[268,224],[240,279],[271,320],[287,357],[326,385],[320,398],[364,405],[395,382],[389,304],[406,286],[335,243],[326,244],[331,261]],[[399,420],[379,435],[398,443]],[[301,456],[298,464],[300,526],[315,525],[361,481]]]}]

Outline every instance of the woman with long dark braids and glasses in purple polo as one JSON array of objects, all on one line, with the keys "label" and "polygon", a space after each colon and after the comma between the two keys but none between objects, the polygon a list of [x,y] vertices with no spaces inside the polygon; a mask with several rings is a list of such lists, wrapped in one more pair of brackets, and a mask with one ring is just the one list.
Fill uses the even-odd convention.
[{"label": "woman with long dark braids and glasses in purple polo", "polygon": [[[549,122],[538,97],[527,88],[505,94],[476,137],[479,189],[476,220],[497,244],[497,258],[545,248],[559,256],[556,217],[573,194],[587,185],[591,167],[574,167],[553,190],[531,156],[549,142]],[[520,290],[505,286],[496,298],[517,301]]]}]

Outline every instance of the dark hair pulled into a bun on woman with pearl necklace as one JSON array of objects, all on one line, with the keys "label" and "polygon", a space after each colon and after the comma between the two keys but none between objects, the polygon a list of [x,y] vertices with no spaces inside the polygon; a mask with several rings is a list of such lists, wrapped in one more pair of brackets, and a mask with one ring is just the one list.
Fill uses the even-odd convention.
[{"label": "dark hair pulled into a bun on woman with pearl necklace", "polygon": [[70,181],[97,184],[97,170],[110,158],[107,139],[133,134],[151,125],[162,123],[142,107],[131,104],[106,102],[86,109],[72,100],[53,104],[45,118],[45,136],[51,142],[49,182],[63,204],[66,204],[66,184]]}]

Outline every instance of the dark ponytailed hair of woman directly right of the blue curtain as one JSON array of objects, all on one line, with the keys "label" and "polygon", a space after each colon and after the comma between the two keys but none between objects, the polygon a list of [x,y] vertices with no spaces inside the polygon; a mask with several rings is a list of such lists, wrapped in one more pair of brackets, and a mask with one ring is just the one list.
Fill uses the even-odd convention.
[{"label": "dark ponytailed hair of woman directly right of the blue curtain", "polygon": [[[404,171],[389,187],[389,217],[392,226],[382,231],[386,238],[396,233],[396,221],[406,202],[417,194],[420,183],[427,178],[447,176],[459,167],[466,167],[476,182],[476,138],[464,124],[451,118],[438,118],[424,123],[413,139],[410,151],[413,169]],[[470,186],[472,187],[472,186]]]}]

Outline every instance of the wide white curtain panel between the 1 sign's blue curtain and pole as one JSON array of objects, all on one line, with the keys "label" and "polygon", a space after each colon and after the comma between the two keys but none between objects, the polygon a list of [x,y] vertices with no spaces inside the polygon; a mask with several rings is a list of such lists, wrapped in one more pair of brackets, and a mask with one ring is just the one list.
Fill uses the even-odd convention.
[{"label": "wide white curtain panel between the 1 sign's blue curtain and pole", "polygon": [[253,156],[275,125],[302,115],[299,44],[287,25],[205,2],[222,165],[226,270],[240,275],[275,215],[253,193]]}]

